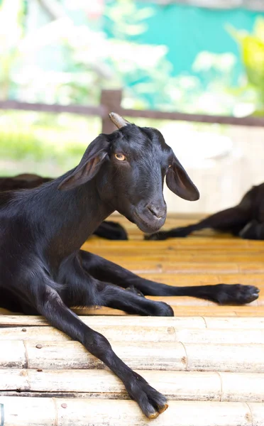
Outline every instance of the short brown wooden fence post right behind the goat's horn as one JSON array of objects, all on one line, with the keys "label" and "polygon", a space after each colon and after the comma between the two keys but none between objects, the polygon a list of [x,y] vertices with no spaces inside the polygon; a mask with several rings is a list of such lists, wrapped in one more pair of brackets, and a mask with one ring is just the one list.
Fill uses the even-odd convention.
[{"label": "short brown wooden fence post right behind the goat's horn", "polygon": [[106,114],[101,119],[102,133],[112,133],[116,130],[116,126],[109,119],[109,112],[119,114],[121,109],[122,91],[121,90],[102,90],[101,91],[101,107],[104,107]]}]

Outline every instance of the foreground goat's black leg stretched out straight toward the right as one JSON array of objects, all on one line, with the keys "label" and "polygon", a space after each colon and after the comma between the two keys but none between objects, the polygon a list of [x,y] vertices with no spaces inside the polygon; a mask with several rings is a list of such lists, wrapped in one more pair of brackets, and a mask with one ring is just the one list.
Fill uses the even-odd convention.
[{"label": "foreground goat's black leg stretched out straight toward the right", "polygon": [[[109,281],[122,288],[136,288],[150,296],[192,296],[211,300],[221,305],[243,305],[258,298],[259,290],[253,285],[216,284],[177,287],[146,280],[100,256],[80,250],[82,266],[94,278]],[[119,308],[121,309],[121,308]]]}]

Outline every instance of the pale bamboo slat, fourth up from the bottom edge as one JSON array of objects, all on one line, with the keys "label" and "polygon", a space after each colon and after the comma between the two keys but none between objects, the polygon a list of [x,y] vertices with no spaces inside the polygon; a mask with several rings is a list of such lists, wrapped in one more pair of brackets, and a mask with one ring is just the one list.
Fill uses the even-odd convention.
[{"label": "pale bamboo slat, fourth up from the bottom edge", "polygon": [[[89,324],[89,321],[87,321]],[[175,327],[148,327],[143,324],[97,325],[92,327],[110,342],[182,342],[215,344],[264,344],[263,329],[177,329]],[[66,334],[53,327],[5,327],[0,331],[2,340],[66,341]]]}]

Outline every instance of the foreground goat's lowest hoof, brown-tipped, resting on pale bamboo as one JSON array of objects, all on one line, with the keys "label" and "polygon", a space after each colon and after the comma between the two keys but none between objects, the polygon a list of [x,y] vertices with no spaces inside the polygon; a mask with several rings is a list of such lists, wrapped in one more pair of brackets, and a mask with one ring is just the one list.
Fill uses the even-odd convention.
[{"label": "foreground goat's lowest hoof, brown-tipped, resting on pale bamboo", "polygon": [[168,408],[167,398],[150,386],[143,377],[135,375],[128,393],[136,400],[141,410],[149,419],[155,419]]}]

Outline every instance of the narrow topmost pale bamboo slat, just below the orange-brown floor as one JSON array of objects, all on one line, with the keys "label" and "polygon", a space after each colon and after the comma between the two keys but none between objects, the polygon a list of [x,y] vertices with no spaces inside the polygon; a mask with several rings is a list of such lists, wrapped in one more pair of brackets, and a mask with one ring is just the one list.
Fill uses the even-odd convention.
[{"label": "narrow topmost pale bamboo slat, just below the orange-brown floor", "polygon": [[[137,317],[126,315],[123,317],[100,316],[80,317],[89,327],[96,326],[136,326],[143,327],[175,327],[193,329],[264,329],[264,317]],[[44,317],[34,315],[0,315],[1,327],[38,326],[45,327],[48,321]]]}]

